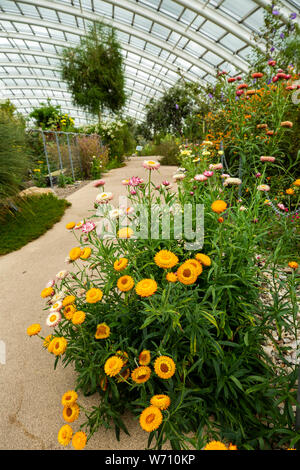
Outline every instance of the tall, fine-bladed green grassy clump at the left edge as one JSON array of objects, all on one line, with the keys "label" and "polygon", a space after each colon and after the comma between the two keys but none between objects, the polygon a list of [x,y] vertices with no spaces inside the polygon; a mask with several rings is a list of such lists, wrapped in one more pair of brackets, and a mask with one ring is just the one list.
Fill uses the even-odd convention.
[{"label": "tall, fine-bladed green grassy clump at the left edge", "polygon": [[29,151],[24,120],[0,109],[0,200],[15,196],[29,166]]}]

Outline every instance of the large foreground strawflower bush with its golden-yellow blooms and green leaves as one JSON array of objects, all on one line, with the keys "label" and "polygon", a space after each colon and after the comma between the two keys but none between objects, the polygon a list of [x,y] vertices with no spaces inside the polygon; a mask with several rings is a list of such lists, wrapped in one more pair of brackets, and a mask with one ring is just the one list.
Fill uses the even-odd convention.
[{"label": "large foreground strawflower bush with its golden-yellow blooms and green leaves", "polygon": [[[91,410],[75,406],[75,392],[63,398],[67,423],[79,411],[85,416],[85,435],[73,437],[75,448],[101,426],[114,426],[118,438],[120,431],[128,432],[122,418],[126,411],[149,433],[153,449],[167,441],[173,449],[203,449],[209,442],[207,450],[271,449],[300,437],[292,409],[296,367],[279,367],[264,349],[272,338],[282,352],[274,330],[297,334],[287,307],[291,302],[295,319],[297,262],[290,259],[285,298],[276,304],[273,292],[273,303],[266,305],[257,261],[257,251],[268,240],[271,209],[264,193],[247,193],[242,201],[247,210],[241,211],[238,187],[224,186],[219,173],[194,188],[196,165],[178,181],[177,192],[164,185],[156,189],[151,180],[155,162],[148,167],[147,183],[135,186],[134,194],[127,188],[130,207],[144,203],[146,219],[154,214],[160,226],[163,220],[154,209],[158,199],[168,207],[171,228],[178,207],[203,204],[201,248],[188,250],[190,240],[184,234],[175,237],[172,230],[168,239],[138,238],[136,212],[127,215],[121,208],[124,219],[110,222],[123,236],[112,239],[111,227],[102,223],[109,220],[111,198],[105,204],[98,198],[97,229],[77,235],[78,253],[89,247],[90,256],[70,257],[70,273],[56,276],[42,291],[46,310],[60,301],[62,312],[52,336],[41,337],[44,348],[56,355],[55,364],[61,360],[75,368],[76,393],[99,396]],[[202,171],[206,165],[205,160]],[[196,212],[191,217],[196,223]],[[276,257],[269,253],[266,261],[274,280],[281,248],[278,242]],[[40,336],[39,327],[28,334]],[[59,439],[63,445],[69,442],[70,429]]]}]

